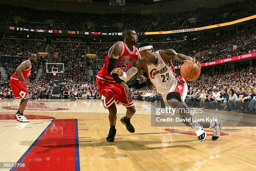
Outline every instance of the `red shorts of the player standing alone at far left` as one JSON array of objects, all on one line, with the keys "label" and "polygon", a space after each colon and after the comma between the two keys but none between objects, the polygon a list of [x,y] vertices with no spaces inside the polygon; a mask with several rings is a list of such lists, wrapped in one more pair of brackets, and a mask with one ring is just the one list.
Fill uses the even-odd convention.
[{"label": "red shorts of the player standing alone at far left", "polygon": [[10,86],[15,100],[28,98],[28,92],[24,82],[20,81],[19,79],[10,78]]}]

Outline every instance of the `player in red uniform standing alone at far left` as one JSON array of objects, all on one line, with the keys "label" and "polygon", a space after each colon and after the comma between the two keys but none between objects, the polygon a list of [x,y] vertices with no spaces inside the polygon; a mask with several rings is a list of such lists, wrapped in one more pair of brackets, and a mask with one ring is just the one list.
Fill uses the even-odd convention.
[{"label": "player in red uniform standing alone at far left", "polygon": [[28,103],[28,92],[26,89],[26,85],[32,85],[30,82],[28,82],[27,78],[30,76],[31,73],[31,64],[35,62],[36,54],[29,54],[28,60],[23,61],[20,66],[18,66],[15,73],[12,74],[12,76],[10,77],[10,86],[13,91],[14,99],[21,99],[18,112],[15,114],[15,118],[16,120],[23,123],[29,122],[29,120],[27,120],[27,118],[23,116],[23,112]]}]

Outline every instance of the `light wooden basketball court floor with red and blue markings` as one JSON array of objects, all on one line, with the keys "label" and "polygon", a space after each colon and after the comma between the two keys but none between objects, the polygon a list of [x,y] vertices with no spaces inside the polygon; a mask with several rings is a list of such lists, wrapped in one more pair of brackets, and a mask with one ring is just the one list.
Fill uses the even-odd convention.
[{"label": "light wooden basketball court floor with red and blue markings", "polygon": [[117,134],[110,143],[108,110],[100,100],[30,100],[24,112],[29,123],[14,120],[18,105],[0,100],[0,162],[26,164],[11,170],[256,170],[256,127],[223,127],[218,141],[205,129],[207,140],[198,142],[191,128],[151,127],[151,104],[135,101],[131,122],[136,132],[120,123],[126,110],[118,106]]}]

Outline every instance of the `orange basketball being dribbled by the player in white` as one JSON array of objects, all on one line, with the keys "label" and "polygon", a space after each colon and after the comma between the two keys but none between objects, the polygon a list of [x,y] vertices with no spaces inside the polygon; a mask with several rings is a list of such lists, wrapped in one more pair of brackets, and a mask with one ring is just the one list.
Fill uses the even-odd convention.
[{"label": "orange basketball being dribbled by the player in white", "polygon": [[198,66],[193,61],[184,62],[180,68],[180,74],[187,81],[194,81],[201,74],[201,66]]}]

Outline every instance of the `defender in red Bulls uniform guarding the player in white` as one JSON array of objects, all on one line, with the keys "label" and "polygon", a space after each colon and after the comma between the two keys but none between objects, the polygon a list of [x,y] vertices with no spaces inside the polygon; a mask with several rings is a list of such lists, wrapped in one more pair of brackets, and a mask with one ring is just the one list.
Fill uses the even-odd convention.
[{"label": "defender in red Bulls uniform guarding the player in white", "polygon": [[105,64],[96,77],[97,89],[100,92],[102,104],[109,111],[108,119],[110,122],[110,130],[106,138],[108,142],[115,140],[117,114],[115,103],[121,103],[126,107],[126,115],[121,118],[121,123],[126,126],[126,129],[130,133],[135,132],[130,122],[131,117],[136,112],[131,98],[131,91],[128,85],[118,77],[118,74],[110,75],[111,71],[116,67],[122,69],[124,72],[128,71],[135,61],[139,59],[139,52],[135,46],[138,43],[136,32],[133,30],[125,30],[123,31],[122,38],[124,41],[116,42],[109,49]]}]

